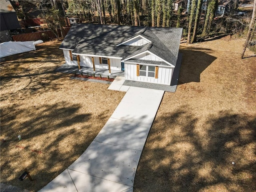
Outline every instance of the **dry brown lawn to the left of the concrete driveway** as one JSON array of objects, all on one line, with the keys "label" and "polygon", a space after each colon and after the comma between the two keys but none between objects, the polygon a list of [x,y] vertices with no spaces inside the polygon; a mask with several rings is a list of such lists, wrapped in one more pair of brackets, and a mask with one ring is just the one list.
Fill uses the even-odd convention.
[{"label": "dry brown lawn to the left of the concrete driveway", "polygon": [[[124,96],[54,72],[65,62],[59,46],[1,59],[1,183],[41,189],[86,150]],[[18,180],[25,168],[33,182]]]}]

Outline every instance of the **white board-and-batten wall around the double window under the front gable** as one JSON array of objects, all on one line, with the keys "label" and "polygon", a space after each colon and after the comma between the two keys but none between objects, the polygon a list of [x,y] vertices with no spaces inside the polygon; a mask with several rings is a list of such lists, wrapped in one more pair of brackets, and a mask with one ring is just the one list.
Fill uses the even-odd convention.
[{"label": "white board-and-batten wall around the double window under the front gable", "polygon": [[164,85],[171,84],[174,68],[158,66],[158,78],[153,78],[153,77],[137,76],[136,64],[130,64],[126,62],[124,62],[124,64],[125,64],[124,73],[125,73],[126,80],[142,81],[142,82],[164,84]]}]

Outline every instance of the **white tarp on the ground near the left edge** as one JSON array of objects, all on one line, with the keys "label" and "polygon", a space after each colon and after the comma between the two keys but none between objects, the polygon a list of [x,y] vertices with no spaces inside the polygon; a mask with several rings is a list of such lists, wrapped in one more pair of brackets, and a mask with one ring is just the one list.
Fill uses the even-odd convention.
[{"label": "white tarp on the ground near the left edge", "polygon": [[0,57],[36,50],[34,41],[9,41],[0,44]]}]

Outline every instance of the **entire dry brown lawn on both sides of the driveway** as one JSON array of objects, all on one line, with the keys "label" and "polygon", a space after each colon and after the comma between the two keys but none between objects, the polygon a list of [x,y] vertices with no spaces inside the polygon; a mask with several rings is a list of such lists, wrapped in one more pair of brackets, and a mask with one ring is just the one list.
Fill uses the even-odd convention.
[{"label": "entire dry brown lawn on both sides of the driveway", "polygon": [[[134,192],[256,190],[256,58],[240,59],[243,43],[181,44],[179,85],[164,94]],[[1,62],[3,183],[45,186],[86,150],[124,96],[53,72],[64,63],[59,45]],[[18,180],[24,168],[33,182]]]}]

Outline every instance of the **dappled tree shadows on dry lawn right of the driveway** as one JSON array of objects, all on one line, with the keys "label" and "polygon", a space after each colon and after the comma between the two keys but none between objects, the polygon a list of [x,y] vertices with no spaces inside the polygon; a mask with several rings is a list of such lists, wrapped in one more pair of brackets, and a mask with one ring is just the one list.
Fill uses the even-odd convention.
[{"label": "dappled tree shadows on dry lawn right of the driveway", "polygon": [[155,120],[134,192],[255,191],[256,118],[223,111],[198,126],[185,109]]}]

